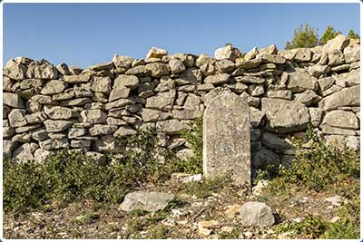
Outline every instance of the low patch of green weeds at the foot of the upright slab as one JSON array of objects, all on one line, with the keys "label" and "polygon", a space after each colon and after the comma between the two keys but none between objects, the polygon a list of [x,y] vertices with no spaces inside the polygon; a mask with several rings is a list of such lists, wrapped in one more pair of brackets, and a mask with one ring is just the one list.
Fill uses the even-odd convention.
[{"label": "low patch of green weeds at the foot of the upright slab", "polygon": [[187,194],[195,195],[197,198],[207,198],[216,189],[231,186],[231,177],[222,176],[214,179],[202,179],[201,181],[191,181],[185,184],[184,191]]}]

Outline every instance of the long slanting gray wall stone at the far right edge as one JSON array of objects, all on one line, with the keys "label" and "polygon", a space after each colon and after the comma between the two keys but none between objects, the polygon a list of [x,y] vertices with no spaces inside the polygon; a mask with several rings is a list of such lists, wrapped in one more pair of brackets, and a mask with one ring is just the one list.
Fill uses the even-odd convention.
[{"label": "long slanting gray wall stone at the far right edge", "polygon": [[359,85],[334,92],[319,102],[319,108],[330,111],[343,106],[358,106],[360,100]]}]

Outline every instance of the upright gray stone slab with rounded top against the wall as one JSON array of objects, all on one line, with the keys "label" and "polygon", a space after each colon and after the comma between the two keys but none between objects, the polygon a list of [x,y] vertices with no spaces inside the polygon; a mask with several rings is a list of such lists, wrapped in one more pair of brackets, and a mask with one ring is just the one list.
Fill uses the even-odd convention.
[{"label": "upright gray stone slab with rounded top against the wall", "polygon": [[232,92],[212,99],[204,111],[203,173],[231,174],[234,184],[250,186],[250,108]]}]

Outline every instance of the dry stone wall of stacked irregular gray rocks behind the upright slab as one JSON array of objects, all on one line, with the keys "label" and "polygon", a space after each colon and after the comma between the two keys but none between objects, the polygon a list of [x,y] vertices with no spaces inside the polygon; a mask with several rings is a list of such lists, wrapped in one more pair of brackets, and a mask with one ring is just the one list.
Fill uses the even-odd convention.
[{"label": "dry stone wall of stacked irregular gray rocks behind the upright slab", "polygon": [[309,125],[358,149],[359,54],[358,40],[338,35],[289,51],[270,45],[242,54],[228,45],[214,58],[153,47],[145,59],[115,54],[84,70],[17,57],[4,68],[4,153],[44,160],[70,148],[104,162],[104,153],[123,150],[120,140],[151,126],[162,146],[186,159],[192,150],[180,132],[221,92],[250,106],[253,169],[288,164],[291,138]]}]

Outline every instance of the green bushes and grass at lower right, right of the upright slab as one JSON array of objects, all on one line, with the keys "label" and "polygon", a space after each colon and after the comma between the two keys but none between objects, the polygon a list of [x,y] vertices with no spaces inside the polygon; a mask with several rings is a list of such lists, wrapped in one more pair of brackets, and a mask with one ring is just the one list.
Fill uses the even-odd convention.
[{"label": "green bushes and grass at lower right, right of the upright slab", "polygon": [[[302,144],[309,142],[309,150],[302,149]],[[328,145],[311,129],[306,137],[297,140],[296,161],[290,168],[280,166],[276,172],[265,172],[270,178],[264,194],[286,196],[296,189],[312,189],[334,193],[346,198],[348,203],[336,211],[342,218],[338,223],[328,223],[317,217],[308,217],[301,223],[281,224],[277,233],[293,231],[296,235],[307,238],[358,238],[359,237],[359,150]]]}]

